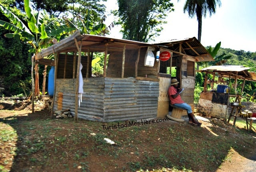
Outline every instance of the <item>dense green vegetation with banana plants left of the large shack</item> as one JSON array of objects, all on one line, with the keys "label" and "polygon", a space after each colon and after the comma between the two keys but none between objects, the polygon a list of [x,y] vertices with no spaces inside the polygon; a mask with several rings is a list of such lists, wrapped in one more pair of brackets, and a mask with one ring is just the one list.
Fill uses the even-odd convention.
[{"label": "dense green vegetation with banana plants left of the large shack", "polygon": [[[5,88],[4,91],[1,90],[0,96],[29,95],[34,85],[36,96],[40,95],[40,90],[44,91],[42,86],[46,85],[43,83],[46,80],[46,71],[40,68],[42,65],[36,63],[35,84],[31,82],[33,53],[38,53],[41,49],[52,45],[53,42],[69,36],[74,30],[80,29],[86,34],[107,33],[110,27],[103,24],[106,16],[104,16],[105,6],[101,3],[104,1],[75,0],[72,3],[83,4],[76,7],[74,4],[73,6],[68,4],[66,0],[44,4],[37,0],[32,0],[32,4],[30,0],[24,0],[24,2],[0,0],[0,34],[5,36],[5,38],[0,38],[0,50],[2,50],[0,56],[3,58],[0,67],[4,69],[0,71],[0,78],[4,78],[0,82],[0,87]],[[50,8],[49,4],[51,4]],[[77,16],[68,19],[63,14],[65,10]],[[62,13],[64,20],[56,18],[55,12]],[[53,56],[46,58],[50,59]],[[46,69],[47,66],[44,68]]]}]

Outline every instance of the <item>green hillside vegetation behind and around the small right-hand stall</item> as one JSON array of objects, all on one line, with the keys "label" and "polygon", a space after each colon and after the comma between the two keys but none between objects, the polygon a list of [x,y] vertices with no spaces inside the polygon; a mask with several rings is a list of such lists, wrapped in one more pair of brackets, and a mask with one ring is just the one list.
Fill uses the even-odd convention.
[{"label": "green hillside vegetation behind and around the small right-hand stall", "polygon": [[[217,47],[217,53],[215,51]],[[211,49],[211,47],[206,47],[207,50],[210,50],[210,52],[214,53],[213,57],[216,60],[216,63],[218,65],[238,65],[238,66],[245,66],[245,67],[250,67],[251,69],[249,70],[250,72],[256,72],[256,52],[245,52],[244,50],[231,50],[230,48],[220,48],[220,42],[216,44],[216,47],[214,50]],[[243,59],[243,61],[240,61]],[[216,65],[213,64],[213,62],[200,62],[200,69],[205,68],[208,66]],[[198,90],[202,90],[201,87],[204,86],[204,74],[201,72],[196,72],[196,88],[194,92],[194,103],[198,103],[198,97],[200,96],[200,92]],[[209,75],[208,79],[211,80],[212,76]],[[214,80],[218,80],[218,77],[216,76]],[[231,79],[229,81],[228,78],[224,78],[227,83],[232,84],[234,83],[234,79]],[[256,92],[256,82],[252,81],[245,81],[244,84],[244,90],[241,92],[242,89],[242,80],[238,80],[238,85],[237,85],[237,93],[242,95],[242,102],[256,102],[255,99],[255,92]],[[210,90],[210,84],[207,85],[208,90]],[[214,88],[217,88],[217,84],[214,83]],[[232,90],[231,90],[232,91]],[[231,98],[231,101],[232,98]]]}]

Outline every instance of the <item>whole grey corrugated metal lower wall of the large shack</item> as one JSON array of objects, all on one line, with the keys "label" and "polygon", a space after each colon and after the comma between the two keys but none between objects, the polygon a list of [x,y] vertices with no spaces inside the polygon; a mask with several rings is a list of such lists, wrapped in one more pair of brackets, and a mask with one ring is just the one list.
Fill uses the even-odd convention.
[{"label": "whole grey corrugated metal lower wall of the large shack", "polygon": [[[75,79],[56,80],[63,92],[62,109],[75,111]],[[157,115],[159,83],[135,78],[84,78],[84,94],[78,118],[102,122],[154,118]]]}]

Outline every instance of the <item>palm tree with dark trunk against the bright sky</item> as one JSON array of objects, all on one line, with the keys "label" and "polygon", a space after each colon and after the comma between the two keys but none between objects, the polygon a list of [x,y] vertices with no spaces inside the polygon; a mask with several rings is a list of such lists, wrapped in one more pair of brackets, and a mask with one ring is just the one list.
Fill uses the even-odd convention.
[{"label": "palm tree with dark trunk against the bright sky", "polygon": [[[178,0],[179,2],[180,0]],[[188,12],[188,15],[193,18],[195,15],[198,21],[198,40],[201,42],[202,34],[202,17],[206,17],[206,14],[209,13],[209,16],[215,14],[216,5],[221,6],[220,0],[186,0],[184,4],[183,11],[184,13]]]}]

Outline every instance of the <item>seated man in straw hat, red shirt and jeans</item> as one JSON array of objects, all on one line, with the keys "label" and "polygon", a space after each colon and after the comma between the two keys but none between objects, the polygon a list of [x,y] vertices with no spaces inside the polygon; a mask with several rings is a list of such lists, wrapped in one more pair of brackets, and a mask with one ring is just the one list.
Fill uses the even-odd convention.
[{"label": "seated man in straw hat, red shirt and jeans", "polygon": [[194,117],[191,106],[181,99],[180,92],[182,91],[182,89],[178,88],[178,83],[178,80],[175,78],[171,80],[171,86],[168,89],[170,103],[174,106],[178,106],[187,110],[189,119],[188,124],[191,124],[193,126],[200,126],[202,123],[198,122]]}]

